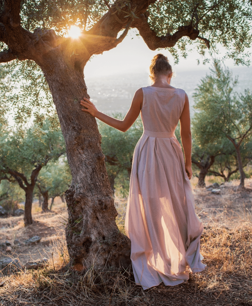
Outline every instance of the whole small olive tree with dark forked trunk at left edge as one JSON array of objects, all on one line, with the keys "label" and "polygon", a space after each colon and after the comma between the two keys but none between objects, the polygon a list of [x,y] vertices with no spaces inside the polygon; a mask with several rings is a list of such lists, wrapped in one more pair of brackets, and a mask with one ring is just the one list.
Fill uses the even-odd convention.
[{"label": "whole small olive tree with dark forked trunk at left edge", "polygon": [[42,127],[2,131],[0,173],[7,180],[17,181],[25,191],[25,225],[32,224],[33,190],[40,170],[63,153],[65,144],[59,125],[52,130],[48,121]]}]

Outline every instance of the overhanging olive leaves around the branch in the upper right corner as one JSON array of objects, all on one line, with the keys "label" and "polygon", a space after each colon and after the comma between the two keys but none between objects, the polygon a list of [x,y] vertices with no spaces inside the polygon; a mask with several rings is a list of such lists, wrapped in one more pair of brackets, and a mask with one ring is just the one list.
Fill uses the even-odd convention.
[{"label": "overhanging olive leaves around the branch in the upper right corner", "polygon": [[[197,9],[195,10],[197,6]],[[199,36],[210,40],[209,55],[218,54],[220,46],[227,49],[224,58],[232,58],[236,64],[250,63],[252,6],[249,0],[186,0],[156,1],[148,8],[148,22],[158,35],[174,34],[183,25],[195,25]],[[194,12],[194,15],[193,15]],[[167,48],[176,59],[187,57],[188,51],[197,50],[205,56],[204,41],[183,37],[175,48]],[[205,58],[204,62],[209,62]]]}]

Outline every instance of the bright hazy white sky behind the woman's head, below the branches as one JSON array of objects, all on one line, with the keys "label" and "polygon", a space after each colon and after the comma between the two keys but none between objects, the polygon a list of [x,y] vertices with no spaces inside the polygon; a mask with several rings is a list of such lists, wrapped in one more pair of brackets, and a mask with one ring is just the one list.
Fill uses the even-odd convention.
[{"label": "bright hazy white sky behind the woman's head, below the branches", "polygon": [[[94,77],[117,73],[148,72],[151,58],[157,53],[163,53],[168,57],[175,72],[208,70],[209,68],[209,65],[197,65],[197,59],[201,57],[197,51],[190,53],[187,59],[180,58],[179,64],[174,65],[173,58],[168,50],[150,50],[142,37],[136,36],[136,31],[132,29],[116,48],[91,58],[85,66],[84,74],[86,77]],[[232,60],[227,60],[225,65],[230,68],[234,66]]]}]

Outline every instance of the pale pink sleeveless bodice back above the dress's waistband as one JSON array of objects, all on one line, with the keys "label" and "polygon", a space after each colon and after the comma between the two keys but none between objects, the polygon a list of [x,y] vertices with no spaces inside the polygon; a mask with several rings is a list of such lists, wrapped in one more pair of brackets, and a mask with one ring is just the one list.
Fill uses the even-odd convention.
[{"label": "pale pink sleeveless bodice back above the dress's waistband", "polygon": [[185,91],[178,88],[143,87],[141,118],[145,131],[174,132],[184,103]]}]

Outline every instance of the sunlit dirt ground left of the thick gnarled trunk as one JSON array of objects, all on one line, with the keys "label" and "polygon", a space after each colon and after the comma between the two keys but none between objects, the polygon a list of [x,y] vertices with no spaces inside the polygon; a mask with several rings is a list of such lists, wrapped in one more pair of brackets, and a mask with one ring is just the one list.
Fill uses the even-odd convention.
[{"label": "sunlit dirt ground left of the thick gnarled trunk", "polygon": [[[18,258],[22,264],[41,258],[52,258],[52,246],[58,239],[65,239],[65,224],[67,223],[66,203],[60,198],[55,201],[51,212],[41,213],[38,203],[33,203],[33,224],[24,226],[23,216],[0,218],[0,243],[10,241],[12,250],[0,251],[0,259],[5,257]],[[34,236],[41,237],[39,243],[26,245],[24,241]],[[13,241],[17,239],[20,245]]]}]

